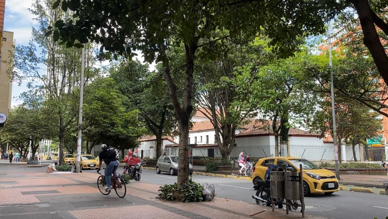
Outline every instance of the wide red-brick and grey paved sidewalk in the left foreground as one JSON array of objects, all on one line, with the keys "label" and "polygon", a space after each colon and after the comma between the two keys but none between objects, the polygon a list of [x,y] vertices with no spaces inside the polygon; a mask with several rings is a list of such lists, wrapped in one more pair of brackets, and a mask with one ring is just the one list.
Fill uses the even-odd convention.
[{"label": "wide red-brick and grey paved sidewalk in the left foreground", "polygon": [[[3,167],[4,165],[2,165]],[[47,174],[0,168],[0,219],[282,219],[301,218],[300,213],[272,212],[269,207],[215,197],[211,202],[167,202],[156,198],[159,186],[132,181],[121,199],[114,191],[102,195],[97,174]],[[40,168],[40,170],[44,168]],[[43,170],[44,171],[44,170]],[[255,214],[263,209],[267,211]],[[321,217],[307,216],[310,219]],[[321,218],[323,219],[323,218]]]}]

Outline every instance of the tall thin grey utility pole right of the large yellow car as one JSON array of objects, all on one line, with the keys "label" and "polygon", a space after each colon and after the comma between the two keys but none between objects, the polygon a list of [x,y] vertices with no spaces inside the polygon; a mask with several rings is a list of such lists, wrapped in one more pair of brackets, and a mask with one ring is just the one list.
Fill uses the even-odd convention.
[{"label": "tall thin grey utility pole right of the large yellow car", "polygon": [[334,159],[336,161],[336,177],[340,180],[340,163],[338,160],[338,142],[337,142],[337,124],[336,124],[336,109],[334,104],[334,86],[333,86],[333,63],[331,61],[331,33],[330,21],[327,23],[327,37],[329,44],[329,66],[330,66],[330,91],[331,91],[331,113],[333,116],[333,142],[334,142]]}]

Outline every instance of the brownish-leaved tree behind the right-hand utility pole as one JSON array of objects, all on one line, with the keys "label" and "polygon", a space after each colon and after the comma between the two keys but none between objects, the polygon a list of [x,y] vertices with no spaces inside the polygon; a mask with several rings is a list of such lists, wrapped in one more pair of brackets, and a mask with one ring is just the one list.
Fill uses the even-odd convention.
[{"label": "brownish-leaved tree behind the right-hand utility pole", "polygon": [[[320,111],[314,115],[311,123],[312,130],[322,134],[333,136],[333,123],[331,114],[331,101],[324,99],[320,104]],[[351,142],[353,148],[353,158],[355,156],[355,146],[363,139],[375,137],[381,129],[381,121],[376,119],[376,113],[369,112],[369,108],[363,106],[353,99],[337,97],[335,102],[336,125],[338,143]],[[340,144],[341,145],[341,144]],[[342,148],[338,147],[338,160],[342,162]]]}]

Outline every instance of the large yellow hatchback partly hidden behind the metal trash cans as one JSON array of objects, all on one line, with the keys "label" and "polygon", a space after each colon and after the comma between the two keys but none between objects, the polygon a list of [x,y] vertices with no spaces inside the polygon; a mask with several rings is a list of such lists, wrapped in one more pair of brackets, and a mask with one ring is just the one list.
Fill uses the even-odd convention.
[{"label": "large yellow hatchback partly hidden behind the metal trash cans", "polygon": [[323,169],[316,164],[297,157],[269,157],[258,160],[253,167],[252,182],[256,179],[264,180],[265,171],[268,164],[275,164],[279,167],[286,165],[287,171],[299,171],[299,165],[303,168],[303,192],[305,196],[310,193],[325,193],[332,194],[339,191],[338,179],[330,170]]}]

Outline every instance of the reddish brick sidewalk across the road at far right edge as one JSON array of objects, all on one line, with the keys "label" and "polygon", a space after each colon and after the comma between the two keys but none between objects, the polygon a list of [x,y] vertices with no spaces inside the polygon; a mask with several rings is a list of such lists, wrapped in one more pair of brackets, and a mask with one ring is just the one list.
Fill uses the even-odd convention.
[{"label": "reddish brick sidewalk across the road at far right edge", "polygon": [[376,175],[341,175],[340,184],[363,187],[384,188],[383,183],[388,182],[388,176]]}]

